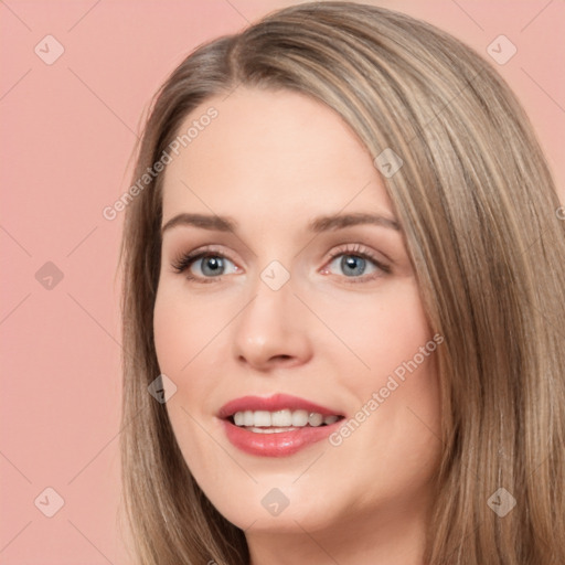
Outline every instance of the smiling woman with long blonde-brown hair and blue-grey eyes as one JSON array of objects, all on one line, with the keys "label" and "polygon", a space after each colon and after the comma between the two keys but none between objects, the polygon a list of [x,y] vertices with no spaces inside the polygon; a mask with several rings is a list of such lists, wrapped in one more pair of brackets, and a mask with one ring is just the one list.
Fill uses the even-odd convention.
[{"label": "smiling woman with long blonde-brown hair and blue-grey eyes", "polygon": [[275,12],[171,74],[132,184],[136,563],[565,563],[565,224],[489,64]]}]

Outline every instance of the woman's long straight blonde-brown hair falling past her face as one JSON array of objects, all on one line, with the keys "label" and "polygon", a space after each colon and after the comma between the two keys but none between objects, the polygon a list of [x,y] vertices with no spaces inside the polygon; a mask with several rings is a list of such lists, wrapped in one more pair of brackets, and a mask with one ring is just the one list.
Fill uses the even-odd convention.
[{"label": "woman's long straight blonde-brown hair falling past her face", "polygon": [[[426,563],[563,565],[565,222],[514,95],[430,24],[372,6],[303,3],[201,45],[174,70],[152,100],[134,182],[194,108],[238,85],[307,94],[372,157],[392,149],[403,160],[383,182],[429,323],[446,340]],[[166,406],[148,393],[160,373],[161,190],[158,174],[128,203],[120,255],[124,513],[140,565],[245,565],[244,533],[200,490]],[[504,516],[493,503],[512,499],[500,488],[516,501]]]}]

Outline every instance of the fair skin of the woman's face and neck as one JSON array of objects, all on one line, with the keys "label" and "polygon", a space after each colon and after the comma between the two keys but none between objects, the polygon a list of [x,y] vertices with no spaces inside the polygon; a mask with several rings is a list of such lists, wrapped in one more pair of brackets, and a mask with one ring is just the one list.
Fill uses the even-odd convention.
[{"label": "fair skin of the woman's face and neck", "polygon": [[[235,233],[178,225],[163,234],[154,344],[177,386],[167,409],[183,457],[245,530],[253,565],[422,565],[440,452],[434,353],[338,447],[253,456],[216,417],[233,398],[275,393],[353,417],[431,340],[402,231],[307,230],[322,214],[394,218],[380,173],[343,120],[301,94],[239,87],[206,100],[180,130],[211,106],[217,117],[168,164],[163,184],[163,225],[182,212],[238,223]],[[227,257],[224,274],[214,276],[210,259],[174,271],[179,256],[209,244]],[[355,244],[390,273],[348,252]],[[350,255],[361,264],[353,275],[340,265]],[[273,260],[290,276],[278,290],[260,278]],[[276,516],[262,505],[273,488],[289,501]]]}]

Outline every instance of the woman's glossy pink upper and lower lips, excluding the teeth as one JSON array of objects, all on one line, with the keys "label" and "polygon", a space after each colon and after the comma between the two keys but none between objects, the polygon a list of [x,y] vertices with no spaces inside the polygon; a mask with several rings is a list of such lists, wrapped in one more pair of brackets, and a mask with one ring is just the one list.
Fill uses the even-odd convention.
[{"label": "woman's glossy pink upper and lower lips, excluding the teeth", "polygon": [[244,396],[231,401],[218,412],[218,417],[222,418],[224,431],[227,439],[242,451],[263,456],[263,457],[286,457],[296,454],[302,448],[306,448],[317,441],[328,437],[332,431],[341,425],[341,420],[330,424],[329,426],[310,427],[305,426],[289,431],[279,431],[274,434],[258,434],[241,428],[232,424],[230,416],[236,412],[243,411],[279,411],[279,409],[306,409],[309,412],[317,412],[323,416],[339,416],[340,413],[320,406],[318,404],[305,401],[297,396],[289,396],[287,394],[276,394],[268,398],[259,396]]}]

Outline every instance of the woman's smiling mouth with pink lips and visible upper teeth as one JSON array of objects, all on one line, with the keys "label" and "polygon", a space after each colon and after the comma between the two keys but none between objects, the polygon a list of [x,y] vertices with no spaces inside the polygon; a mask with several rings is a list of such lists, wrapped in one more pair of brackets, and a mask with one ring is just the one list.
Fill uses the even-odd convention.
[{"label": "woman's smiling mouth with pink lips and visible upper teeth", "polygon": [[246,454],[282,457],[326,438],[344,415],[296,396],[246,396],[224,405],[218,415],[227,439]]}]

